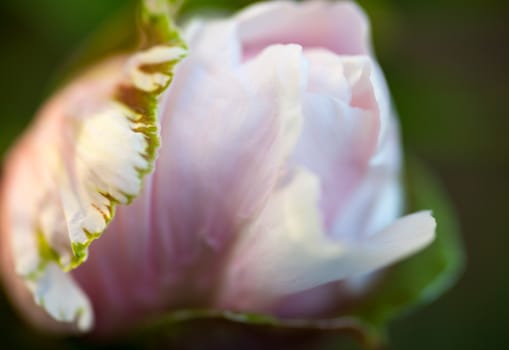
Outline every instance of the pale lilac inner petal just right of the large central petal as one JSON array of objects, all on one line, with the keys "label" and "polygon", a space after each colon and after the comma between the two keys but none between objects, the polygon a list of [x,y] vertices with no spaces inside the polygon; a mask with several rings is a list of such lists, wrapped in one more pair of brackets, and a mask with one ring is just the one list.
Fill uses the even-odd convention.
[{"label": "pale lilac inner petal just right of the large central petal", "polygon": [[325,227],[334,234],[337,213],[366,176],[377,147],[380,118],[372,63],[366,56],[337,56],[324,50],[310,50],[306,57],[310,86],[293,160],[320,176]]}]

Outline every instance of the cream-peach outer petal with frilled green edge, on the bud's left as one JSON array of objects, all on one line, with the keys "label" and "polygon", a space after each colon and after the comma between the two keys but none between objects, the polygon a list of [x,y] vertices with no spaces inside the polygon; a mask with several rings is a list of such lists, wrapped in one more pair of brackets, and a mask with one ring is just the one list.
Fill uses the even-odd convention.
[{"label": "cream-peach outer petal with frilled green edge, on the bud's left", "polygon": [[[150,6],[158,3],[163,2]],[[140,192],[158,146],[156,97],[185,53],[166,14],[150,6],[144,8],[145,29],[165,41],[110,59],[60,91],[5,163],[2,240],[11,248],[6,259],[13,259],[37,304],[80,330],[91,327],[92,310],[64,271],[86,259],[114,207]],[[170,39],[173,46],[167,45]],[[19,280],[10,278],[8,284],[19,289]]]}]

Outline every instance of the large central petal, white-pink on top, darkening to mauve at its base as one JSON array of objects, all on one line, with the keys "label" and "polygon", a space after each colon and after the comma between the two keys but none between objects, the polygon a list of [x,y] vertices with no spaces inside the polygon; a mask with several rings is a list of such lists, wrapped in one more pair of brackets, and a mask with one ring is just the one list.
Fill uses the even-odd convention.
[{"label": "large central petal, white-pink on top, darkening to mauve at its base", "polygon": [[301,48],[274,46],[238,69],[203,59],[191,46],[178,67],[145,193],[118,209],[76,270],[99,305],[98,323],[206,303],[225,251],[286,171],[302,122]]}]

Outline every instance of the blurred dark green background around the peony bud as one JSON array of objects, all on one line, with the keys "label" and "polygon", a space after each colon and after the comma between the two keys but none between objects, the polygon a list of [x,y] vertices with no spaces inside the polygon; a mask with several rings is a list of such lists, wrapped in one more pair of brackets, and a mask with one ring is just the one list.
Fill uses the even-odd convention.
[{"label": "blurred dark green background around the peony bud", "polygon": [[[203,0],[190,0],[199,6]],[[225,7],[248,1],[216,1]],[[468,265],[430,306],[396,320],[391,349],[501,349],[509,323],[509,1],[359,0],[372,20],[407,149],[442,180]],[[0,2],[0,154],[99,27],[134,0]],[[133,30],[133,29],[131,29]],[[128,36],[129,29],[120,36]],[[0,303],[7,344],[32,337]],[[38,340],[43,346],[44,340]],[[49,343],[48,343],[49,344]]]}]

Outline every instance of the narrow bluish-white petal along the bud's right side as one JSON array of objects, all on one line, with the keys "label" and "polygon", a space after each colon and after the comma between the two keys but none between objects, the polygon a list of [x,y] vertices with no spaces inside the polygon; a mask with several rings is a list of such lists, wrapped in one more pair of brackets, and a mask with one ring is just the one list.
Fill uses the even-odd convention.
[{"label": "narrow bluish-white petal along the bud's right side", "polygon": [[[328,222],[334,237],[352,240],[373,234],[399,217],[403,209],[403,196],[399,128],[395,113],[391,110],[383,75],[372,60],[365,66],[369,70],[360,69],[359,58],[349,57],[348,61],[345,70],[349,71],[350,79],[364,77],[357,80],[357,97],[354,96],[352,102],[359,106],[372,106],[378,125],[377,135],[369,136],[371,152],[364,153],[369,154],[369,158],[362,163],[364,168],[357,167],[356,186],[350,187],[347,196],[342,197],[342,205],[337,207],[335,216]],[[358,148],[358,145],[351,146]],[[350,167],[352,164],[355,163],[350,163]],[[348,168],[344,167],[342,171]],[[363,171],[359,171],[361,169]],[[343,179],[344,174],[340,177]]]}]

